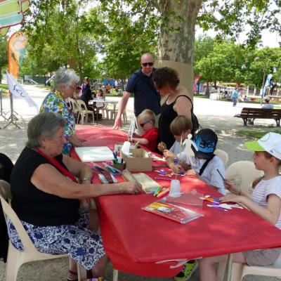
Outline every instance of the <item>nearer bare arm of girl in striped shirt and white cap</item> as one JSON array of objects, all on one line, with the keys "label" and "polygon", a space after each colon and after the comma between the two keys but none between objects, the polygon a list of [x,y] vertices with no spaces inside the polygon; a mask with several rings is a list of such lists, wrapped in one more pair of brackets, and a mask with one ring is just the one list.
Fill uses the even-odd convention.
[{"label": "nearer bare arm of girl in striped shirt and white cap", "polygon": [[266,221],[272,223],[273,225],[277,223],[278,218],[280,216],[281,200],[275,194],[268,195],[268,206],[266,208],[261,207],[259,204],[256,204],[248,197],[238,196],[234,194],[221,197],[221,202],[235,202],[238,204],[242,204],[249,210],[264,218]]}]

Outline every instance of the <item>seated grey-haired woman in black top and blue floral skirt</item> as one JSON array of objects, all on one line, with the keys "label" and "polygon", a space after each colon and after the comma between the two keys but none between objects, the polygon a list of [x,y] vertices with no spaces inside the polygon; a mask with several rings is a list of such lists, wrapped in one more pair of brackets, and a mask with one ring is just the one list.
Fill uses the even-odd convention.
[{"label": "seated grey-haired woman in black top and blue floral skirt", "polygon": [[[47,254],[68,254],[68,280],[77,279],[77,264],[103,276],[107,257],[100,235],[87,228],[89,209],[79,200],[100,195],[138,194],[139,183],[91,184],[90,166],[62,154],[65,119],[53,112],[32,118],[27,146],[11,174],[12,207],[34,246]],[[90,217],[91,219],[91,217]],[[22,249],[18,233],[7,221],[8,234]]]}]

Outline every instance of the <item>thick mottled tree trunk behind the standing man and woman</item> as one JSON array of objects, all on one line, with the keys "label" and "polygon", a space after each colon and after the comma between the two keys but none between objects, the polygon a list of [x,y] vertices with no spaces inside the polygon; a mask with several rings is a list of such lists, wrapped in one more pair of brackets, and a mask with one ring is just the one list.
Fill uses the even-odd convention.
[{"label": "thick mottled tree trunk behind the standing man and woman", "polygon": [[[167,17],[161,27],[158,45],[160,65],[178,70],[181,84],[192,93],[195,22],[202,0],[159,2],[160,13]],[[178,17],[181,17],[181,20]],[[169,25],[166,25],[166,22],[169,22]]]}]

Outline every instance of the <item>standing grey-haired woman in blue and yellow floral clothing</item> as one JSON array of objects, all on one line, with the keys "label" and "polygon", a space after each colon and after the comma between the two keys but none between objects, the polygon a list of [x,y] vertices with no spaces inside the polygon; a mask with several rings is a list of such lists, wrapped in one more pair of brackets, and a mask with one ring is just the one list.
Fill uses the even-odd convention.
[{"label": "standing grey-haired woman in blue and yellow floral clothing", "polygon": [[65,138],[67,139],[67,142],[63,146],[63,154],[65,155],[70,155],[72,146],[83,146],[82,141],[75,133],[74,116],[65,102],[66,98],[73,96],[78,81],[79,77],[74,70],[61,68],[55,72],[54,91],[48,93],[40,108],[40,112],[52,111],[65,119]]}]

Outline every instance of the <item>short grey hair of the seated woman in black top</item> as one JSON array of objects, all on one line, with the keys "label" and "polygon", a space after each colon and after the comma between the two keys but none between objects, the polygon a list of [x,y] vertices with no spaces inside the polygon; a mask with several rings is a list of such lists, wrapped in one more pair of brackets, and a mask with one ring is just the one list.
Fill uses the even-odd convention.
[{"label": "short grey hair of the seated woman in black top", "polygon": [[60,129],[65,126],[65,119],[53,112],[41,112],[33,117],[27,127],[27,148],[39,148],[41,138],[51,138]]}]

